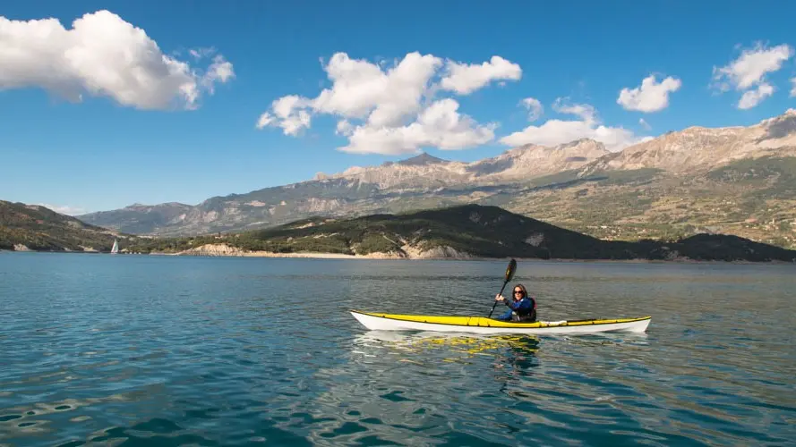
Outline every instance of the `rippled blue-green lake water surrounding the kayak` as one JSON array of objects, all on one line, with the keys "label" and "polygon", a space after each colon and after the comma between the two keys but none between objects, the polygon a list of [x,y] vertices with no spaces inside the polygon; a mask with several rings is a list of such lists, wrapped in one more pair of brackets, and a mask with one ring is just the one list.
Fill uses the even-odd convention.
[{"label": "rippled blue-green lake water surrounding the kayak", "polygon": [[486,316],[505,266],[0,253],[0,445],[794,444],[794,266],[519,262],[540,319],[646,334],[347,313]]}]

